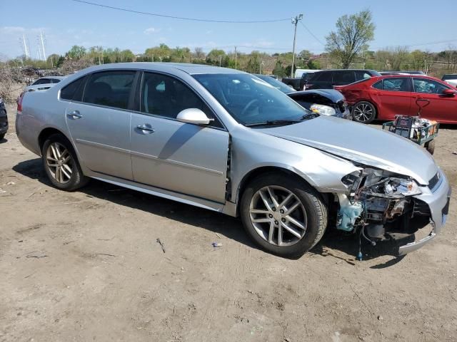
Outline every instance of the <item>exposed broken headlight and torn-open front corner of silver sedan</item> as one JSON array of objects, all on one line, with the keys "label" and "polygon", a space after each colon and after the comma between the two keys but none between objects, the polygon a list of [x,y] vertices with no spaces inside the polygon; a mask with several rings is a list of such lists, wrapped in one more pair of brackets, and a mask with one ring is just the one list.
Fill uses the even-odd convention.
[{"label": "exposed broken headlight and torn-open front corner of silver sedan", "polygon": [[[428,205],[415,197],[421,195],[421,187],[411,177],[365,167],[346,175],[341,182],[348,192],[336,195],[336,228],[358,232],[373,246],[394,239],[399,246],[394,254],[404,254],[400,245],[411,244],[418,229],[431,222]],[[432,234],[427,238],[431,239]]]}]

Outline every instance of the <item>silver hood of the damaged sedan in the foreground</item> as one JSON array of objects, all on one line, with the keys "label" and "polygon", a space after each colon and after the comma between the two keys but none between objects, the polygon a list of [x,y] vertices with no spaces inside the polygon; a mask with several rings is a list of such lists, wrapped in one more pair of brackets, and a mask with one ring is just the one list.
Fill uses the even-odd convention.
[{"label": "silver hood of the damaged sedan in the foreground", "polygon": [[423,147],[393,133],[349,120],[320,116],[263,133],[338,155],[353,162],[408,175],[428,185],[438,166]]}]

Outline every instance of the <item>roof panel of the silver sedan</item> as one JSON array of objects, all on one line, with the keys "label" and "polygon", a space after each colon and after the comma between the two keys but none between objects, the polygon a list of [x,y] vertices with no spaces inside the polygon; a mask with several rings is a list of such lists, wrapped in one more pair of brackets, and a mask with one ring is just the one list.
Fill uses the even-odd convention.
[{"label": "roof panel of the silver sedan", "polygon": [[144,69],[151,71],[173,71],[180,70],[189,75],[206,74],[206,73],[245,73],[230,68],[221,68],[220,66],[205,66],[192,63],[157,63],[157,62],[131,62],[131,63],[109,63],[101,66],[92,66],[86,70],[104,71],[110,69]]}]

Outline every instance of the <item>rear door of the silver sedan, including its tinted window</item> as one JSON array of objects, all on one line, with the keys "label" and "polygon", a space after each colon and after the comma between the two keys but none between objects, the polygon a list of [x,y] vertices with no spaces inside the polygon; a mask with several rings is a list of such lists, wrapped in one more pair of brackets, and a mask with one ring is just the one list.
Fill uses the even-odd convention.
[{"label": "rear door of the silver sedan, including its tinted window", "polygon": [[[95,172],[132,180],[129,102],[133,71],[95,73],[83,102],[66,108],[66,123],[81,158]],[[116,108],[123,107],[123,108]]]}]

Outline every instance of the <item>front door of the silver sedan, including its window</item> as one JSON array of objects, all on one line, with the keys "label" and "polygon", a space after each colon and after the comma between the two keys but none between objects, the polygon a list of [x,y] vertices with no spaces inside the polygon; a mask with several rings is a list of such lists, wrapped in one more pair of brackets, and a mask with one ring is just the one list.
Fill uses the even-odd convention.
[{"label": "front door of the silver sedan, including its window", "polygon": [[[131,115],[134,180],[225,202],[229,133],[220,128],[174,120],[180,110],[204,105],[180,81],[159,75],[149,79],[146,76],[142,83],[142,93],[146,96],[142,96],[140,102],[145,113]],[[148,96],[148,88],[155,93],[150,92]]]}]

